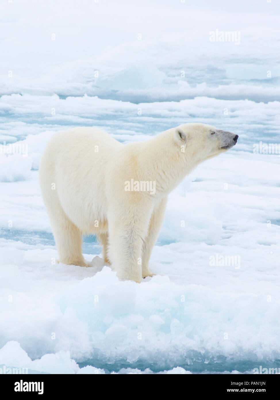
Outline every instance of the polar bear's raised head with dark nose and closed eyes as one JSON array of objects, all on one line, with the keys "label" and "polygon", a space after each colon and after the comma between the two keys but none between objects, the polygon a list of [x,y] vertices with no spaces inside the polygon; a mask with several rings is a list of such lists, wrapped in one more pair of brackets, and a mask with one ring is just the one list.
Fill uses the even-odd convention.
[{"label": "polar bear's raised head with dark nose and closed eyes", "polygon": [[174,130],[174,139],[186,154],[202,162],[232,148],[238,135],[207,124],[183,124]]}]

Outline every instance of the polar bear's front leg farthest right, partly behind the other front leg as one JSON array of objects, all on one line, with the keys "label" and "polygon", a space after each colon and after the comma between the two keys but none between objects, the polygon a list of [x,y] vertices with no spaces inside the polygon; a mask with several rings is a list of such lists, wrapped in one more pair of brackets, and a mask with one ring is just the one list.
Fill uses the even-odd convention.
[{"label": "polar bear's front leg farthest right, partly behind the other front leg", "polygon": [[157,237],[159,236],[159,231],[161,230],[166,203],[167,197],[161,200],[159,205],[154,209],[151,216],[151,220],[149,223],[149,232],[147,238],[143,243],[142,249],[142,278],[155,275],[149,270],[149,260],[151,252],[153,250],[153,246],[155,246],[155,242],[157,241]]}]

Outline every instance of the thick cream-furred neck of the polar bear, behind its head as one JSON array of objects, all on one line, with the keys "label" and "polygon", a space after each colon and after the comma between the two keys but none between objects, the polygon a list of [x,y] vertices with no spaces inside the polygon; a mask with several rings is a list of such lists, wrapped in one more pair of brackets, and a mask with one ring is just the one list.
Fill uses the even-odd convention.
[{"label": "thick cream-furred neck of the polar bear, behind its head", "polygon": [[[139,143],[138,143],[139,144]],[[173,130],[167,130],[139,147],[139,164],[143,176],[156,182],[157,194],[170,193],[198,164],[175,143]]]}]

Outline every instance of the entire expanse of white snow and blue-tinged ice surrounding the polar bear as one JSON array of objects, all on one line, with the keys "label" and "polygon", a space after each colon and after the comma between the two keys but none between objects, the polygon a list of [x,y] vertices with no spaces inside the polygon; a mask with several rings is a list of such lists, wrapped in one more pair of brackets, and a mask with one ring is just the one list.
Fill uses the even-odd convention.
[{"label": "entire expanse of white snow and blue-tinged ice surrounding the polar bear", "polygon": [[[280,142],[279,6],[238,0],[225,10],[201,0],[202,12],[187,1],[151,8],[143,0],[110,2],[108,14],[106,2],[86,3],[68,4],[67,18],[64,2],[0,6],[9,32],[1,42],[0,144],[28,150],[0,154],[0,368],[239,374],[280,367],[280,156],[253,153],[259,141]],[[100,35],[104,21],[110,29]],[[240,45],[209,42],[215,29],[240,31]],[[239,139],[169,196],[151,256],[156,275],[120,282],[90,236],[89,268],[56,264],[38,184],[50,137],[98,126],[129,143],[183,122]]]}]

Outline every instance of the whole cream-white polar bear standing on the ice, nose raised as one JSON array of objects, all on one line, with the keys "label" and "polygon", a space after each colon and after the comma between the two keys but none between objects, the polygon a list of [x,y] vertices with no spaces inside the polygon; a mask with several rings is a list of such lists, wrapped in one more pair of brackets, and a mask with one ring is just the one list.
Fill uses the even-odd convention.
[{"label": "whole cream-white polar bear standing on the ice, nose raised", "polygon": [[119,279],[140,282],[152,276],[149,258],[168,194],[237,138],[194,123],[129,144],[90,127],[55,134],[42,156],[40,186],[60,262],[88,266],[82,235],[96,234],[104,261]]}]

